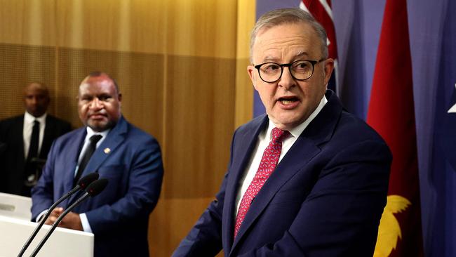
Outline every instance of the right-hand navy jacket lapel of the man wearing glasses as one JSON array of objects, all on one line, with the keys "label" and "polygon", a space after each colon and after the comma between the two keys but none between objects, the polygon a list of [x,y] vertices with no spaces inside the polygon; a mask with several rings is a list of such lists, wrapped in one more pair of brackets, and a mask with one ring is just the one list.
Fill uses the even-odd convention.
[{"label": "right-hand navy jacket lapel of the man wearing glasses", "polygon": [[[340,113],[342,112],[342,105],[337,97],[335,97],[333,91],[328,90],[326,98],[328,99],[328,103],[325,107],[323,107],[317,117],[311,121],[309,126],[304,129],[299,138],[297,138],[293,146],[276,166],[274,172],[268,178],[266,183],[264,183],[262,189],[253,200],[253,203],[246,214],[246,218],[243,220],[238,235],[233,242],[230,253],[232,253],[233,249],[235,249],[236,245],[246,234],[248,228],[250,228],[254,221],[261,215],[264,209],[266,209],[269,202],[271,202],[271,199],[277,192],[279,192],[281,187],[288,180],[293,178],[298,171],[302,170],[304,166],[306,166],[307,163],[321,151],[321,145],[330,140],[339,120]],[[248,156],[250,157],[250,154],[248,154]],[[245,164],[243,166],[245,166]],[[242,171],[238,172],[241,173]],[[238,183],[238,181],[239,176],[236,178],[235,183]],[[236,194],[236,192],[233,192],[233,194]],[[236,197],[236,195],[234,195],[234,197]],[[234,198],[230,198],[230,200],[234,202]],[[234,218],[232,218],[232,220],[234,220]]]}]

